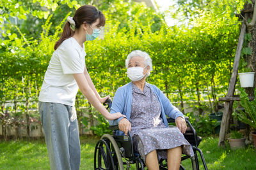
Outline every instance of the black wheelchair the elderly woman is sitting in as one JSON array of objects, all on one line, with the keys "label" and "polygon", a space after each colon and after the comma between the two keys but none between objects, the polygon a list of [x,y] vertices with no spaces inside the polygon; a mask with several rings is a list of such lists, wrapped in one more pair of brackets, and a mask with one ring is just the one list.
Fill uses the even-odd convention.
[{"label": "black wheelchair the elderly woman is sitting in", "polygon": [[[108,108],[111,107],[111,101],[106,101]],[[106,105],[106,103],[104,105]],[[108,109],[107,108],[107,109]],[[173,118],[168,118],[168,123],[175,123]],[[184,138],[191,144],[194,152],[194,156],[184,155],[181,158],[180,169],[185,169],[182,166],[182,161],[191,159],[193,170],[199,169],[198,155],[200,154],[204,169],[207,169],[204,155],[198,148],[202,138],[196,135],[196,131],[189,122],[189,118],[185,117],[188,129],[183,134]],[[132,137],[128,132],[127,136],[116,136],[115,132],[118,131],[118,125],[109,126],[109,129],[113,131],[113,134],[104,134],[95,146],[94,152],[94,169],[97,170],[124,170],[134,169],[132,164],[136,164],[137,170],[145,169],[145,162],[140,157],[139,153],[135,153],[133,150]],[[124,167],[126,166],[126,168]],[[167,160],[159,161],[159,169],[167,169]]]}]

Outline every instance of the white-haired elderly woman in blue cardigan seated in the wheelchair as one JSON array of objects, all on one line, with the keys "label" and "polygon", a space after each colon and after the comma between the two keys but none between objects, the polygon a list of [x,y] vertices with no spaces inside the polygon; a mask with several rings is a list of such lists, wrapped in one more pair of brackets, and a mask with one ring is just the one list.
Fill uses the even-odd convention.
[{"label": "white-haired elderly woman in blue cardigan seated in the wheelchair", "polygon": [[[109,124],[118,124],[118,135],[131,131],[134,150],[140,153],[148,169],[159,169],[158,160],[166,158],[168,169],[179,169],[182,151],[193,155],[182,135],[187,128],[184,115],[161,90],[145,81],[152,71],[148,53],[132,51],[125,66],[131,82],[116,90],[110,113],[120,112],[126,118],[120,117]],[[175,119],[177,127],[168,126],[166,115]]]}]

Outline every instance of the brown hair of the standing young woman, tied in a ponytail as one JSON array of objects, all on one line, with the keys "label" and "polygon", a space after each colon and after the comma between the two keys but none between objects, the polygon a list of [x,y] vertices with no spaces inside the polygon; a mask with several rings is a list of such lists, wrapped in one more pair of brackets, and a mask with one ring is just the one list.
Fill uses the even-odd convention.
[{"label": "brown hair of the standing young woman, tied in a ponytail", "polygon": [[[73,20],[76,23],[76,29],[79,29],[79,27],[82,24],[84,24],[84,22],[86,22],[87,24],[93,24],[93,22],[96,22],[96,20],[98,18],[99,18],[100,22],[97,26],[98,27],[104,26],[105,22],[106,22],[106,18],[103,15],[103,13],[92,5],[84,5],[76,10]],[[74,35],[74,33],[75,33],[75,31],[73,31],[70,28],[70,23],[66,22],[66,24],[63,27],[63,32],[61,34],[60,39],[58,41],[56,41],[56,43],[54,45],[54,50],[56,50],[58,48],[58,46],[60,46],[63,41],[72,37]]]}]

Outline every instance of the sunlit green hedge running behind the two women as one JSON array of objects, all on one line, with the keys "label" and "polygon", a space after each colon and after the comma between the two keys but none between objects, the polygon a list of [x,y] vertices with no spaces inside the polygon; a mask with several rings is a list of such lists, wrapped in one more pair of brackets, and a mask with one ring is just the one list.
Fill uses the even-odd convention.
[{"label": "sunlit green hedge running behind the two women", "polygon": [[[54,29],[50,20],[43,26],[39,40],[27,40],[20,32],[19,38],[5,41],[6,49],[0,58],[2,103],[37,100],[52,47],[61,31],[49,36],[49,29]],[[129,82],[124,62],[137,49],[152,57],[154,69],[147,81],[166,92],[173,102],[203,102],[225,94],[239,25],[230,23],[225,29],[223,25],[190,29],[164,25],[153,33],[150,24],[131,22],[129,31],[118,30],[119,24],[109,21],[104,39],[85,43],[86,66],[100,94],[113,96],[118,87]]]}]

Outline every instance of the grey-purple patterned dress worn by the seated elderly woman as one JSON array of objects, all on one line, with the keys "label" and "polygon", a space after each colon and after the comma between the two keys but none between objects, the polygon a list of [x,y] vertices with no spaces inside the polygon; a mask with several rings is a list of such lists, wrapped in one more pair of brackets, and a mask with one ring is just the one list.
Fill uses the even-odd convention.
[{"label": "grey-purple patterned dress worn by the seated elderly woman", "polygon": [[165,127],[156,94],[145,83],[143,92],[132,83],[131,135],[135,152],[145,157],[157,150],[158,159],[167,159],[167,150],[182,146],[182,153],[193,156],[193,150],[177,127]]}]

